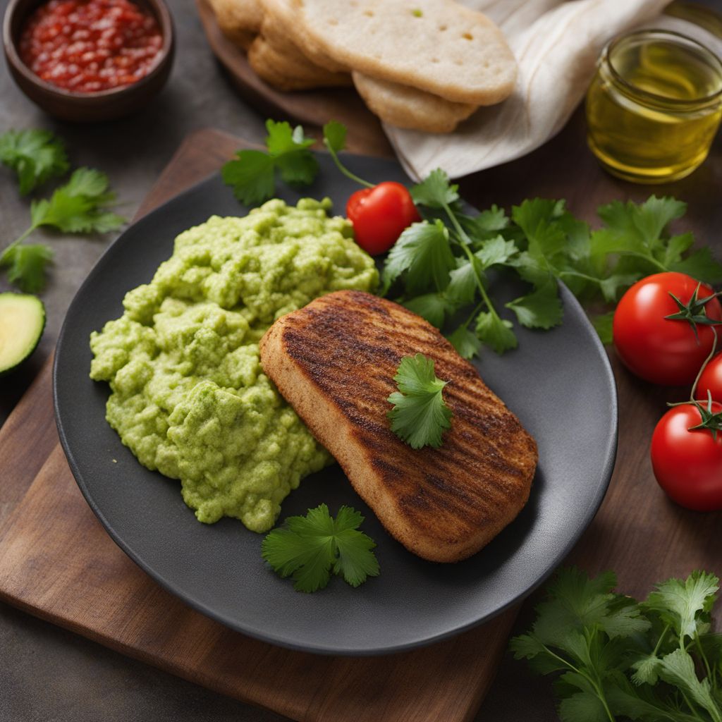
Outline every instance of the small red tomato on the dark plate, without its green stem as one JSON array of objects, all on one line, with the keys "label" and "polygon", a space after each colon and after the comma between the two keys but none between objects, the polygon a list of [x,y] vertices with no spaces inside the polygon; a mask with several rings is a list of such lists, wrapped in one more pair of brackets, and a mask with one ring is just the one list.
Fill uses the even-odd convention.
[{"label": "small red tomato on the dark plate, without its green stem", "polygon": [[388,251],[405,228],[421,220],[408,188],[393,181],[353,193],[346,215],[356,243],[372,256]]}]

